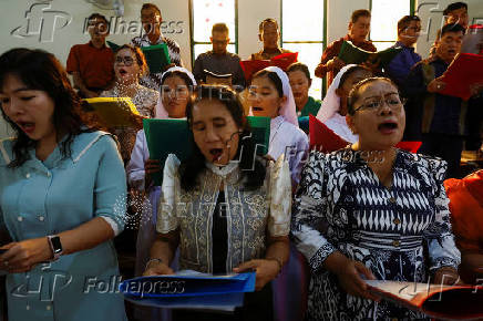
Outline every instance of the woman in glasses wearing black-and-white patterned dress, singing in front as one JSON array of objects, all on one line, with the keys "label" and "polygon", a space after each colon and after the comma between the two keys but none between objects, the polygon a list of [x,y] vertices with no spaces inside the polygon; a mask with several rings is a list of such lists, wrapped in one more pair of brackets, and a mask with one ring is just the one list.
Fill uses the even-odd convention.
[{"label": "woman in glasses wearing black-and-white patterned dress, singing in front", "polygon": [[446,163],[394,147],[405,116],[389,79],[358,83],[348,115],[359,141],[331,154],[311,152],[295,197],[291,232],[312,271],[307,320],[425,318],[379,301],[364,279],[458,280]]}]

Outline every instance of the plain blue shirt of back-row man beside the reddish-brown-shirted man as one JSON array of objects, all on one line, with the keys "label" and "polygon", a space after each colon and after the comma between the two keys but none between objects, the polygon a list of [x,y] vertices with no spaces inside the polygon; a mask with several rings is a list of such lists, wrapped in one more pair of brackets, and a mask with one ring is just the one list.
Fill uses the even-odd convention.
[{"label": "plain blue shirt of back-row man beside the reddish-brown-shirted man", "polygon": [[414,48],[405,46],[401,42],[395,42],[392,48],[401,46],[402,51],[384,68],[387,75],[399,86],[402,85],[411,68],[421,61],[421,55],[414,52]]}]

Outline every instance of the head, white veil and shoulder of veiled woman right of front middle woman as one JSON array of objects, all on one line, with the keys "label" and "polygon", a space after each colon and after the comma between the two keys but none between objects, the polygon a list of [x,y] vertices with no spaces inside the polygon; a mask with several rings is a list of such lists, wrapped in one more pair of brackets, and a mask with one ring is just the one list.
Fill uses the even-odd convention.
[{"label": "head, white veil and shoulder of veiled woman right of front middle woman", "polygon": [[292,187],[298,184],[302,159],[308,151],[307,135],[298,127],[297,107],[287,74],[277,66],[257,72],[249,87],[248,102],[255,116],[270,117],[268,155],[285,154]]}]

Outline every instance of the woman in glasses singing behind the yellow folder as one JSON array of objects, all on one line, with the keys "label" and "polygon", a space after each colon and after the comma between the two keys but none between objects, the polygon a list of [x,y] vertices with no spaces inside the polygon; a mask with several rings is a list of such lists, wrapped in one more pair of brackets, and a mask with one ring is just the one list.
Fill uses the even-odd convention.
[{"label": "woman in glasses singing behind the yellow folder", "polygon": [[[111,90],[101,93],[101,97],[130,97],[143,117],[154,117],[160,93],[142,86],[140,79],[148,72],[146,59],[141,49],[124,44],[114,55],[115,82]],[[140,117],[141,122],[141,117]],[[136,142],[134,128],[110,128],[121,144],[121,155],[127,164]]]}]

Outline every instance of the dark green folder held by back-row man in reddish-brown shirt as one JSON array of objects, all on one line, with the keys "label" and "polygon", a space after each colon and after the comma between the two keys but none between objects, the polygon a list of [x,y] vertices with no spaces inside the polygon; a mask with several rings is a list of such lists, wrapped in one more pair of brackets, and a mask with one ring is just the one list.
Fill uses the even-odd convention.
[{"label": "dark green folder held by back-row man in reddish-brown shirt", "polygon": [[397,46],[388,48],[378,52],[371,52],[356,46],[351,41],[343,41],[339,51],[339,59],[346,64],[361,64],[368,60],[373,62],[379,60],[380,65],[384,66],[388,65],[401,51],[402,48]]}]

